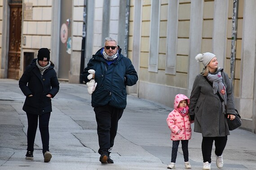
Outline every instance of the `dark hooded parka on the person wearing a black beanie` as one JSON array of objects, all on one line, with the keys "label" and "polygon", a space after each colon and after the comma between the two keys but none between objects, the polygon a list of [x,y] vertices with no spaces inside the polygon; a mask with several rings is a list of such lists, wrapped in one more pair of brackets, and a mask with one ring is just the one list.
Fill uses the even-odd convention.
[{"label": "dark hooded parka on the person wearing a black beanie", "polygon": [[[33,59],[31,64],[26,67],[19,80],[19,87],[26,96],[22,109],[30,114],[42,115],[52,111],[51,98],[46,95],[51,94],[53,98],[59,91],[59,82],[52,62],[41,75],[36,66],[36,60]],[[33,96],[28,97],[30,94]]]}]

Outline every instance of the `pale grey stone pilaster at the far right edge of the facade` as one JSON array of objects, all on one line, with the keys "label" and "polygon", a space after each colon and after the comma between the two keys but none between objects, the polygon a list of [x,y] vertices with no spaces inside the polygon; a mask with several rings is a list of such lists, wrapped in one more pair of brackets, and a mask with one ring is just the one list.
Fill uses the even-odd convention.
[{"label": "pale grey stone pilaster at the far right edge of the facade", "polygon": [[[238,4],[239,5],[239,4]],[[253,100],[256,95],[254,85],[256,53],[256,1],[244,1],[243,9],[243,43],[240,68],[240,110],[243,118],[252,119]],[[253,128],[253,127],[248,127]]]}]

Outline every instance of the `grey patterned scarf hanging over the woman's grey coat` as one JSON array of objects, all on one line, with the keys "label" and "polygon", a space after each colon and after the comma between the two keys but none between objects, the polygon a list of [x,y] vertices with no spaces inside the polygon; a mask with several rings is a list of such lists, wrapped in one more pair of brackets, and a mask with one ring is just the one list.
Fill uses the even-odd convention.
[{"label": "grey patterned scarf hanging over the woman's grey coat", "polygon": [[221,98],[224,100],[224,104],[227,104],[227,94],[225,85],[222,83],[221,72],[217,74],[208,73],[207,79],[212,82],[212,91],[213,94],[216,94],[217,91],[220,93]]}]

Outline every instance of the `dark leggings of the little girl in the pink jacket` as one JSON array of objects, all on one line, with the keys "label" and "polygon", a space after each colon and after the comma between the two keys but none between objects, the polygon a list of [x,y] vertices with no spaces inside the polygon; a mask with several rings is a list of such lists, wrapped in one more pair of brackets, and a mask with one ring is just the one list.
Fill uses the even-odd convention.
[{"label": "dark leggings of the little girl in the pink jacket", "polygon": [[[172,141],[172,161],[171,162],[173,162],[173,163],[176,162],[179,143],[180,143],[180,140]],[[181,140],[181,145],[182,145],[181,148],[183,151],[183,157],[184,157],[185,162],[189,161],[188,144],[189,144],[189,140]]]}]

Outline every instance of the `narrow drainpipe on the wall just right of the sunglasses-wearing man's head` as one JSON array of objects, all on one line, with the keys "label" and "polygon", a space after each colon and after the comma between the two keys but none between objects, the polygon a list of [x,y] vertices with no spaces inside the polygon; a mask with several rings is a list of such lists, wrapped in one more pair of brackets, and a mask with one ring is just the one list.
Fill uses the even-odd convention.
[{"label": "narrow drainpipe on the wall just right of the sunglasses-wearing man's head", "polygon": [[125,38],[124,38],[124,56],[126,57],[128,57],[129,17],[130,17],[130,0],[127,0],[126,11],[125,11]]}]

